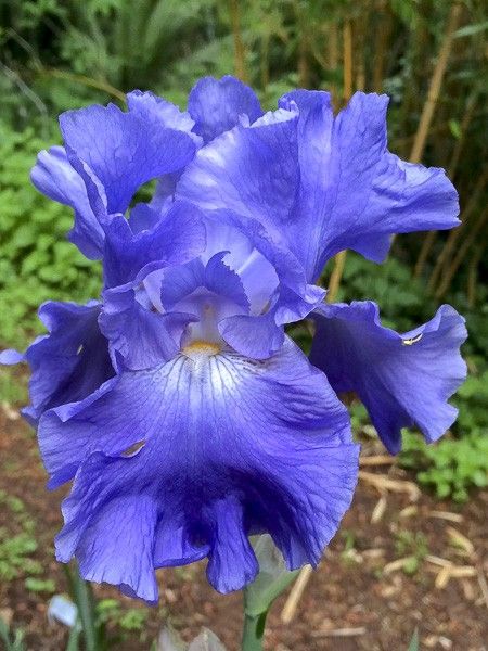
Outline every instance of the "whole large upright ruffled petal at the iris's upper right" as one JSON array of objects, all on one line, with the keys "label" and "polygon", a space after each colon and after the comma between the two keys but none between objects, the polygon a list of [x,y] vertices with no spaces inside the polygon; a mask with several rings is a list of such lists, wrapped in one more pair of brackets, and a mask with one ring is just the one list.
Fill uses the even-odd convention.
[{"label": "whole large upright ruffled petal at the iris's upper right", "polygon": [[329,94],[317,91],[290,93],[280,106],[202,148],[177,194],[260,221],[308,282],[344,248],[381,261],[393,233],[459,224],[444,171],[386,150],[386,95],[356,93],[336,117]]}]

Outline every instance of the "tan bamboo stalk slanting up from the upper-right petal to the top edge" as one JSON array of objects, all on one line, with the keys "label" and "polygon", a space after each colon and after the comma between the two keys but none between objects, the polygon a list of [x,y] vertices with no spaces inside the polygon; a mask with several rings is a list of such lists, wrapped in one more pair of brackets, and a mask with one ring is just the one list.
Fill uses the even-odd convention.
[{"label": "tan bamboo stalk slanting up from the upper-right petal to the top edge", "polygon": [[431,79],[428,87],[427,99],[422,110],[422,115],[416,129],[415,139],[413,141],[412,151],[410,152],[410,162],[419,163],[424,153],[425,143],[428,136],[428,129],[431,127],[432,118],[436,110],[437,100],[439,99],[440,88],[442,86],[444,75],[446,73],[447,64],[449,61],[449,54],[452,48],[452,39],[454,31],[458,27],[459,20],[461,17],[462,5],[461,2],[454,2],[449,12],[449,18],[444,36],[442,46],[437,58],[436,65],[434,67],[434,74]]}]

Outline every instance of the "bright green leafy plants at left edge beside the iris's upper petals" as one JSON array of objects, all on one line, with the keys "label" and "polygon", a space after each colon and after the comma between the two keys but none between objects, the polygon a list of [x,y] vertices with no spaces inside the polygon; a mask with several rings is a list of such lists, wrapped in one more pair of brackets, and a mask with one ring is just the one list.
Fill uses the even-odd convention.
[{"label": "bright green leafy plants at left edge beside the iris's upper petals", "polygon": [[42,330],[36,310],[43,301],[85,302],[99,293],[100,279],[88,272],[89,260],[66,241],[72,209],[48,201],[26,182],[37,153],[49,144],[34,127],[18,133],[0,120],[2,347],[22,348]]}]

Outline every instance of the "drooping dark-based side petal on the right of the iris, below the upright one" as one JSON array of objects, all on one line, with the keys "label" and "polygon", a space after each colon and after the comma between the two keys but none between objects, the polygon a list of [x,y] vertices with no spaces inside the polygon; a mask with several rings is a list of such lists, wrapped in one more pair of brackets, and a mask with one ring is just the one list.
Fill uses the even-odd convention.
[{"label": "drooping dark-based side petal on the right of the iris, below the upright one", "polygon": [[447,400],[466,378],[460,346],[467,333],[452,307],[404,334],[383,327],[369,301],[324,305],[313,316],[311,362],[336,392],[359,395],[391,454],[402,427],[416,425],[433,442],[454,422],[458,410]]}]

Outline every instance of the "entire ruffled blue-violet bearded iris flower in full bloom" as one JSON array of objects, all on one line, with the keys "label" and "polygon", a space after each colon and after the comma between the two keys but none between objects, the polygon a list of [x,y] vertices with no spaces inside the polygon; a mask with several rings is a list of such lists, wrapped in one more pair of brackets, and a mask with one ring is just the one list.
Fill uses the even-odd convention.
[{"label": "entire ruffled blue-violet bearded iris flower in full bloom", "polygon": [[[387,151],[385,95],[334,116],[329,93],[298,90],[264,114],[223,77],[198,81],[188,112],[140,91],[127,105],[64,113],[64,148],[31,175],[74,208],[102,296],[44,304],[49,334],[1,359],[31,367],[50,486],[74,480],[59,560],[155,602],[155,569],[203,558],[217,590],[245,586],[252,534],[290,569],[317,564],[357,481],[336,392],[357,392],[391,452],[403,426],[435,441],[455,419],[466,332],[442,306],[398,334],[374,303],[326,305],[314,284],[339,251],[382,261],[393,233],[459,224],[444,171]],[[310,361],[284,333],[306,317]]]}]

